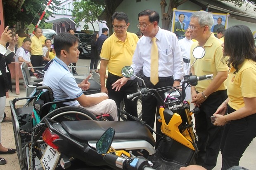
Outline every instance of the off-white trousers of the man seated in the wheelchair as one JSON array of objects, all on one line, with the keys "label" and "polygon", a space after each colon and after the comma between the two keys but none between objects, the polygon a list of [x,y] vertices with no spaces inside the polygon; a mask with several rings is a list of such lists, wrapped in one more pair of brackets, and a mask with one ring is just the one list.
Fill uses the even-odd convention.
[{"label": "off-white trousers of the man seated in the wheelchair", "polygon": [[[100,97],[100,96],[108,96],[108,95],[106,93],[96,93],[96,94],[90,94],[86,96]],[[83,107],[79,103],[76,106]],[[106,99],[98,103],[97,105],[83,107],[83,108],[87,109],[88,111],[92,112],[95,115],[110,114],[113,117],[114,121],[118,121],[116,102],[112,99]]]}]

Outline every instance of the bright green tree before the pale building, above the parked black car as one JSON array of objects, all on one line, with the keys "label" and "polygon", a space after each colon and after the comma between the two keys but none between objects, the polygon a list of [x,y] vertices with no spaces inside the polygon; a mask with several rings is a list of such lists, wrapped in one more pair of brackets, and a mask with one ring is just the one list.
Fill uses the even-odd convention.
[{"label": "bright green tree before the pale building, above the parked black car", "polygon": [[90,0],[75,0],[73,2],[73,17],[76,17],[75,22],[77,26],[79,23],[84,21],[84,29],[87,30],[89,28],[88,23],[92,24],[93,31],[95,31],[93,23],[97,20],[104,9],[104,5],[99,3],[91,2]]}]

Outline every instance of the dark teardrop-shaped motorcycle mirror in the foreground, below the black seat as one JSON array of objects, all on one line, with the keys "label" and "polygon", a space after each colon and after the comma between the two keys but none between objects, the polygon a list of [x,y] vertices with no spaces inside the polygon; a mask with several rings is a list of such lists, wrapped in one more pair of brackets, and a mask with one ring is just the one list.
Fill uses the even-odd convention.
[{"label": "dark teardrop-shaped motorcycle mirror in the foreground, below the black seat", "polygon": [[100,137],[96,143],[96,150],[98,154],[106,154],[113,142],[115,135],[115,130],[113,128],[108,128],[103,135]]}]

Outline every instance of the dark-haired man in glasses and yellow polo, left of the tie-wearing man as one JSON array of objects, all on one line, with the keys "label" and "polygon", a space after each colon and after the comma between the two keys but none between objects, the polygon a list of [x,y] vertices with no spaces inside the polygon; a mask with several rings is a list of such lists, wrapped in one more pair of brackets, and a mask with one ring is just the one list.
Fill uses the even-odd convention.
[{"label": "dark-haired man in glasses and yellow polo, left of the tie-wearing man", "polygon": [[[139,38],[136,34],[127,32],[130,23],[125,13],[115,12],[112,16],[112,23],[115,32],[104,41],[100,53],[101,91],[107,93],[109,98],[116,102],[117,107],[120,107],[120,103],[124,99],[126,111],[137,117],[137,98],[132,101],[126,97],[128,94],[137,92],[137,80],[129,80],[120,91],[112,89],[111,85],[123,77],[121,74],[122,68],[132,64],[133,53]],[[107,67],[108,78],[105,86]]]}]

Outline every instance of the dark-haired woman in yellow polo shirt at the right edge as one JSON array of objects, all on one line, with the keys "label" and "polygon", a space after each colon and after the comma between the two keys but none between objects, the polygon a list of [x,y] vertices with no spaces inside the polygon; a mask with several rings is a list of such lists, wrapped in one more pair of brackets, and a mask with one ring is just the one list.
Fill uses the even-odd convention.
[{"label": "dark-haired woman in yellow polo shirt at the right edge", "polygon": [[[227,93],[220,105],[214,125],[224,126],[220,144],[222,168],[239,165],[245,149],[256,137],[256,46],[251,30],[244,25],[228,28],[222,45],[223,54],[230,56]],[[224,58],[223,57],[223,58]],[[228,108],[228,114],[225,111]],[[256,154],[254,155],[256,156]]]}]

